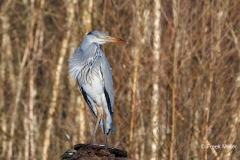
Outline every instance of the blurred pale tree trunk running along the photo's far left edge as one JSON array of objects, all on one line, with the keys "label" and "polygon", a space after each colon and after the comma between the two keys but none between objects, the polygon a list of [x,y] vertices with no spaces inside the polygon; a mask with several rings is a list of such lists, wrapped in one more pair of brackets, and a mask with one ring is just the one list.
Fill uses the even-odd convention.
[{"label": "blurred pale tree trunk running along the photo's far left edge", "polygon": [[[11,6],[14,6],[14,2],[12,1],[6,1],[1,4],[1,27],[2,27],[2,44],[1,44],[1,64],[0,64],[0,112],[1,118],[0,121],[1,124],[1,131],[3,132],[3,136],[0,138],[2,141],[2,151],[1,155],[5,157],[7,153],[9,152],[7,145],[11,145],[7,142],[7,115],[4,113],[6,102],[5,102],[5,96],[4,96],[4,86],[5,81],[10,81],[11,83],[11,90],[14,92],[15,90],[15,75],[13,72],[13,63],[12,58],[12,46],[11,46],[11,39],[10,39],[10,22],[9,22],[9,15],[8,10]],[[9,73],[9,76],[6,77],[7,73]],[[10,149],[11,150],[11,149]],[[9,153],[8,153],[9,154]]]}]

